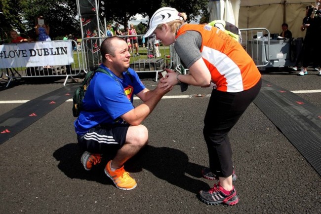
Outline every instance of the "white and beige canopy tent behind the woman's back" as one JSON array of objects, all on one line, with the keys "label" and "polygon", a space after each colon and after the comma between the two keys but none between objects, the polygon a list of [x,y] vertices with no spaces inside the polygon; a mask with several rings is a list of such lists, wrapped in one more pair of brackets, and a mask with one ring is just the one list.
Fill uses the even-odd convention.
[{"label": "white and beige canopy tent behind the woman's back", "polygon": [[209,0],[210,20],[223,19],[245,28],[266,28],[280,34],[282,23],[288,24],[293,37],[304,37],[300,31],[305,7],[315,0]]}]

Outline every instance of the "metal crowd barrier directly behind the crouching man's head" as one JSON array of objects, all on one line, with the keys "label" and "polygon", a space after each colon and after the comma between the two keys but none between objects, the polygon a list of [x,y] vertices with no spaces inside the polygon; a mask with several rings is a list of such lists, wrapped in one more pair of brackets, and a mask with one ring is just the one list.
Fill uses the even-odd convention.
[{"label": "metal crowd barrier directly behind the crouching man's head", "polygon": [[[172,50],[173,46],[155,46],[155,43],[149,44],[148,38],[145,38],[146,46],[141,45],[141,39],[144,35],[135,35],[138,37],[138,53],[136,55],[135,46],[133,46],[133,39],[130,37],[134,36],[119,36],[123,38],[126,42],[129,39],[132,45],[133,53],[131,53],[130,58],[130,68],[132,68],[137,73],[141,72],[156,72],[156,81],[158,81],[158,72],[163,71],[164,68],[172,68]],[[102,63],[102,58],[100,54],[100,44],[106,37],[88,37],[84,38],[81,43],[81,53],[82,53],[82,64],[83,71],[91,71]],[[153,45],[153,46],[152,46]],[[153,55],[150,56],[150,55]]]}]

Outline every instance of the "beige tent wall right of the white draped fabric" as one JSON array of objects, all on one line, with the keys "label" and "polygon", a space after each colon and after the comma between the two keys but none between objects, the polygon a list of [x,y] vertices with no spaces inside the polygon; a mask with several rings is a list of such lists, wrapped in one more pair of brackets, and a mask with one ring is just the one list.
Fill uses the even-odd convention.
[{"label": "beige tent wall right of the white draped fabric", "polygon": [[314,0],[241,0],[240,29],[266,28],[271,34],[280,34],[282,23],[288,24],[293,37],[304,37],[300,31],[305,7]]}]

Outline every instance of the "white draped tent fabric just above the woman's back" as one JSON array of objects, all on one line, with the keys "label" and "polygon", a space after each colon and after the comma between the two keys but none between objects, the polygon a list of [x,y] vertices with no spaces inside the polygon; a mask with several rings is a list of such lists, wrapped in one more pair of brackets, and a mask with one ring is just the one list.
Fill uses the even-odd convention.
[{"label": "white draped tent fabric just above the woman's back", "polygon": [[219,19],[238,25],[240,1],[241,0],[209,0],[207,5],[209,22]]}]

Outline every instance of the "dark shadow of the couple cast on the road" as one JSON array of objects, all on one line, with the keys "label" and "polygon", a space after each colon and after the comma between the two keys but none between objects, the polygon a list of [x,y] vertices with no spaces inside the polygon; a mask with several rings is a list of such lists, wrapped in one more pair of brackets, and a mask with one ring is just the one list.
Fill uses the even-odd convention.
[{"label": "dark shadow of the couple cast on the road", "polygon": [[[112,154],[104,156],[102,163],[91,171],[85,171],[80,163],[82,151],[77,143],[69,143],[57,149],[53,157],[60,161],[58,168],[69,178],[86,179],[102,184],[113,184],[104,173],[104,167]],[[147,145],[136,156],[125,163],[128,172],[141,172],[146,169],[157,178],[197,194],[209,185],[200,180],[202,166],[189,162],[188,156],[174,148]],[[138,177],[137,175],[136,177]]]}]

